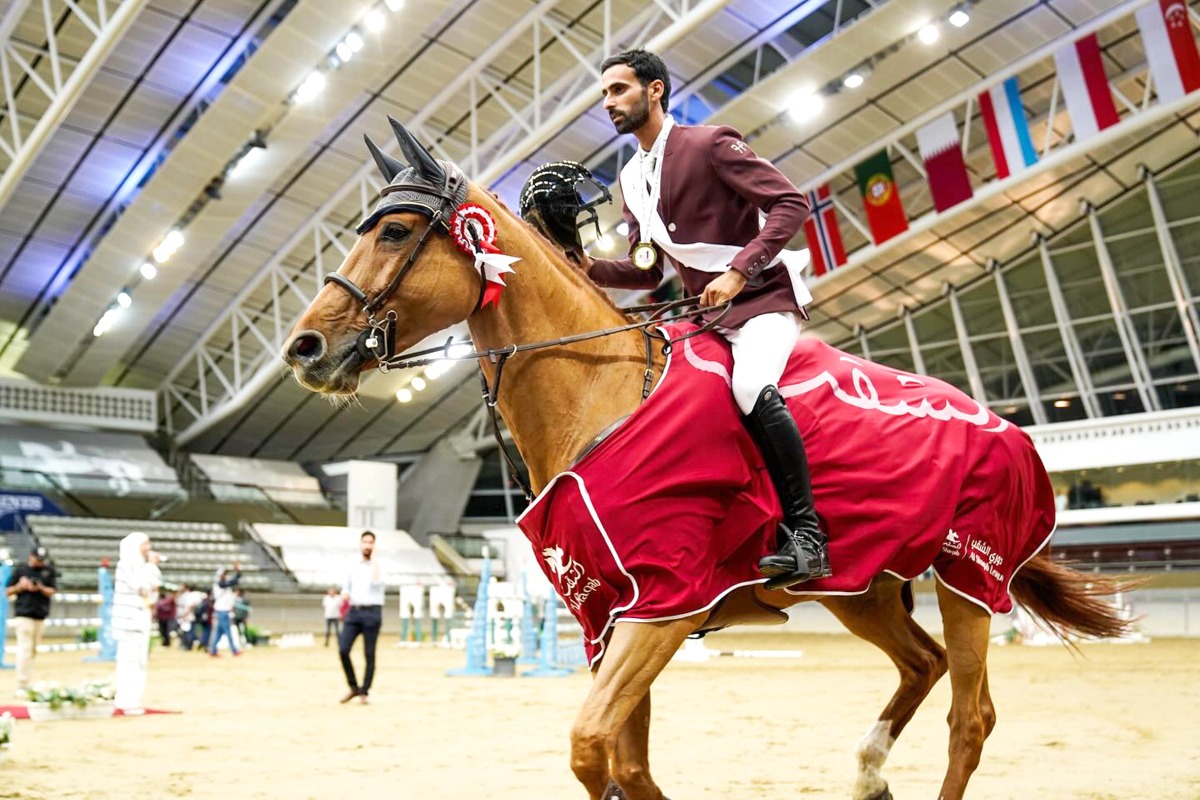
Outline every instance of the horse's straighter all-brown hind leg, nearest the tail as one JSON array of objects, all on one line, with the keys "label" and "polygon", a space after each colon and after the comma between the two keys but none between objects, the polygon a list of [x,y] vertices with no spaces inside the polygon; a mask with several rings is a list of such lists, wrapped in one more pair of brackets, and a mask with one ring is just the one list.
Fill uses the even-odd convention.
[{"label": "horse's straighter all-brown hind leg, nearest the tail", "polygon": [[988,639],[991,615],[968,600],[937,584],[946,656],[950,667],[949,766],[938,800],[961,800],[967,781],[979,765],[983,741],[996,724],[988,693]]}]

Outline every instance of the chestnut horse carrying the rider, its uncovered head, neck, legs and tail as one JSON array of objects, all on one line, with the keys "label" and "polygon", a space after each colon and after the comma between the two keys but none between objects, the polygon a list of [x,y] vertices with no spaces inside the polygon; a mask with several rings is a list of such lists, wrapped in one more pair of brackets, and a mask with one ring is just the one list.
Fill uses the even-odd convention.
[{"label": "chestnut horse carrying the rider, its uncovered head, neck, legs and tail", "polygon": [[[337,273],[326,277],[284,347],[283,357],[302,386],[325,395],[353,395],[360,373],[376,367],[380,357],[463,320],[479,350],[629,323],[546,237],[466,181],[457,167],[436,161],[395,120],[392,127],[408,164],[367,140],[389,186],[359,227],[359,239]],[[486,210],[494,221],[494,249],[488,252],[520,258],[494,305],[485,302],[485,296],[494,297],[496,287],[485,279],[494,272],[476,266],[469,247],[446,235],[454,233],[448,222],[463,200]],[[476,228],[476,247],[479,233]],[[368,319],[376,327],[368,327]],[[655,374],[664,362],[660,353],[654,355]],[[599,432],[638,407],[646,349],[642,335],[626,330],[521,353],[508,365],[498,408],[533,488],[540,491]],[[494,385],[494,365],[481,359],[480,366]],[[881,458],[887,457],[884,447],[880,445]],[[821,463],[814,462],[812,469],[820,470]],[[850,475],[840,477],[853,481]],[[1019,602],[1062,636],[1122,633],[1124,622],[1099,596],[1111,590],[1103,579],[1052,563],[1045,552],[1030,560],[1010,585]],[[882,649],[900,672],[900,686],[858,746],[856,800],[892,796],[881,774],[883,762],[946,672],[953,700],[949,766],[940,798],[964,796],[996,721],[988,691],[990,614],[938,583],[943,646],[912,620],[908,591],[902,581],[881,575],[860,595],[818,599],[852,633]],[[727,595],[714,610],[670,621],[613,625],[571,729],[571,769],[588,796],[664,796],[649,771],[650,685],[690,633],[733,624],[775,624],[785,618],[782,609],[805,600],[812,597],[748,585]]]}]

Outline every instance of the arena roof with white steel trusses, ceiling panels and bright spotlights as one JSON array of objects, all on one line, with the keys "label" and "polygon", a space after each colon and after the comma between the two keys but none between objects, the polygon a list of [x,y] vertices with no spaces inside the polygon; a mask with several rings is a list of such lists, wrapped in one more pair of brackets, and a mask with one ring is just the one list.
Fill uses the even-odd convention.
[{"label": "arena roof with white steel trusses, ceiling panels and bright spotlights", "polygon": [[[827,187],[847,258],[811,281],[812,330],[862,343],[1195,154],[1200,96],[1151,78],[1147,7],[14,0],[0,12],[0,372],[155,390],[162,427],[199,452],[427,450],[476,414],[469,366],[374,375],[335,408],[278,360],[380,188],[362,134],[397,154],[390,114],[511,206],[552,160],[614,182],[632,144],[600,109],[599,65],[634,46],[670,65],[679,121],[731,125],[803,190]],[[1115,122],[1094,132],[1073,122],[1056,67],[1081,41],[1114,97]],[[1025,169],[998,169],[990,146],[983,98],[1008,86]],[[971,184],[948,206],[920,133],[947,114]],[[905,229],[876,243],[856,167],[881,151]],[[619,205],[604,209],[596,252],[620,247],[618,222]]]}]

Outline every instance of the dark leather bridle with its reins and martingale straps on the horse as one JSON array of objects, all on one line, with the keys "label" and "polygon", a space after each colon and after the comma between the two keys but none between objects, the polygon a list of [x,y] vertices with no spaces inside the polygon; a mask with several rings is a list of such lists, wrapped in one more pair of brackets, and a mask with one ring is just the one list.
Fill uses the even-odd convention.
[{"label": "dark leather bridle with its reins and martingale straps on the horse", "polygon": [[[642,380],[642,401],[644,402],[646,398],[650,396],[650,390],[653,389],[654,383],[654,349],[652,342],[654,339],[662,342],[661,353],[662,355],[668,355],[672,347],[678,342],[691,338],[692,336],[698,336],[700,333],[706,333],[716,327],[720,321],[725,319],[725,315],[730,313],[731,303],[726,302],[724,306],[718,306],[716,308],[720,308],[720,313],[718,313],[713,319],[704,321],[695,331],[690,331],[674,338],[670,338],[661,331],[652,329],[661,325],[666,319],[666,314],[670,312],[676,312],[672,317],[674,319],[690,319],[710,311],[709,308],[700,306],[698,296],[684,297],[682,300],[672,300],[668,302],[649,303],[644,306],[631,306],[629,308],[624,308],[623,311],[631,314],[647,314],[647,318],[628,325],[618,325],[616,327],[605,327],[595,331],[588,331],[586,333],[563,336],[557,339],[546,339],[542,342],[530,342],[526,344],[509,344],[503,348],[487,348],[484,350],[472,349],[470,353],[460,354],[451,353],[451,350],[458,349],[461,345],[473,347],[473,343],[470,339],[460,339],[455,342],[454,337],[451,337],[448,338],[445,344],[442,347],[401,353],[397,355],[395,353],[396,312],[389,311],[382,320],[377,319],[376,312],[383,307],[388,299],[400,287],[404,276],[408,275],[408,272],[416,264],[416,258],[420,255],[421,248],[425,246],[430,231],[437,229],[442,234],[450,233],[450,216],[454,213],[454,209],[451,206],[454,204],[458,179],[460,176],[454,173],[454,170],[446,170],[445,182],[440,190],[425,184],[394,184],[383,190],[382,194],[390,194],[391,192],[408,190],[437,198],[437,206],[430,207],[430,224],[424,231],[421,231],[420,237],[416,240],[416,245],[408,254],[408,259],[400,267],[388,285],[384,287],[383,291],[377,294],[374,297],[370,297],[356,283],[343,275],[338,275],[337,272],[326,275],[323,282],[332,283],[340,287],[362,305],[362,313],[367,318],[367,327],[359,333],[354,347],[360,357],[373,357],[379,365],[379,372],[386,373],[392,369],[426,367],[436,361],[443,360],[469,361],[487,359],[496,365],[496,377],[492,380],[491,386],[487,384],[487,375],[484,373],[482,365],[479,366],[479,383],[484,392],[484,405],[487,408],[488,416],[491,417],[492,435],[496,438],[496,445],[499,447],[500,455],[504,457],[504,461],[509,467],[509,474],[512,475],[514,480],[516,480],[516,482],[521,486],[521,491],[524,492],[526,500],[532,503],[534,498],[533,488],[521,475],[521,470],[517,468],[516,461],[512,458],[512,453],[509,451],[509,446],[505,444],[504,438],[500,434],[500,416],[496,408],[500,395],[500,378],[504,374],[504,365],[508,360],[517,353],[566,347],[578,342],[587,342],[588,339],[624,333],[626,331],[640,331],[642,333],[642,341],[646,345],[646,369],[643,372]],[[485,289],[486,278],[484,277],[482,270],[479,270],[479,297],[475,300],[475,307],[472,309],[470,314],[468,314],[468,318],[475,314],[475,312],[478,312],[482,306]],[[594,446],[594,444],[595,441],[593,441],[592,446]]]}]

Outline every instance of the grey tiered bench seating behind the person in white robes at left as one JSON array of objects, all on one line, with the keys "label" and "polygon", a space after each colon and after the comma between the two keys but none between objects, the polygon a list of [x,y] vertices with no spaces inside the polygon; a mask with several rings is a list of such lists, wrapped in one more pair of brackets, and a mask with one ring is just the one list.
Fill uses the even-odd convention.
[{"label": "grey tiered bench seating behind the person in white robes at left", "polygon": [[218,523],[48,516],[30,516],[26,523],[37,542],[49,548],[65,588],[94,587],[96,567],[103,559],[115,566],[120,540],[134,530],[148,534],[167,557],[161,565],[167,583],[208,587],[218,569],[239,561],[247,590],[295,588],[256,542],[239,542]]}]

